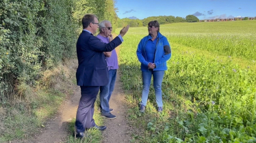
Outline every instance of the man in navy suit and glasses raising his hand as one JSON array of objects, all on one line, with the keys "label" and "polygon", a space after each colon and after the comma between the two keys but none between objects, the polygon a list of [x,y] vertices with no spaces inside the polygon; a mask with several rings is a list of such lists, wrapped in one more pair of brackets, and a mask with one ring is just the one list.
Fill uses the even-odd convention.
[{"label": "man in navy suit and glasses raising his hand", "polygon": [[82,19],[83,31],[77,40],[77,85],[81,87],[81,99],[77,108],[75,121],[77,138],[84,137],[85,129],[95,127],[101,131],[105,126],[97,126],[94,123],[94,102],[97,98],[100,86],[108,83],[108,69],[103,52],[110,52],[122,44],[123,36],[127,33],[129,25],[124,27],[120,34],[105,44],[93,34],[99,29],[99,21],[94,14],[86,14]]}]

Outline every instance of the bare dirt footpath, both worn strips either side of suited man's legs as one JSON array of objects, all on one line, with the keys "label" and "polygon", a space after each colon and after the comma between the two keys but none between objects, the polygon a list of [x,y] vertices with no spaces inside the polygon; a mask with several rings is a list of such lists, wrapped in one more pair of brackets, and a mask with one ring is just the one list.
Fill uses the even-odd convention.
[{"label": "bare dirt footpath, both worn strips either side of suited man's legs", "polygon": [[[104,125],[107,126],[107,129],[103,131],[103,143],[120,143],[129,142],[129,140],[131,140],[131,130],[127,124],[128,120],[126,116],[127,108],[125,106],[125,95],[121,90],[121,83],[119,79],[119,75],[117,75],[115,88],[110,99],[110,108],[114,109],[112,114],[116,115],[116,118],[108,119],[102,117],[105,118]],[[75,94],[64,101],[57,115],[53,118],[50,118],[47,123],[44,123],[44,127],[40,129],[40,132],[36,133],[37,135],[33,140],[14,141],[14,143],[65,142],[67,136],[69,135],[67,125],[73,118],[75,118],[77,113],[77,106],[81,97],[79,86],[74,88],[74,90]]]}]

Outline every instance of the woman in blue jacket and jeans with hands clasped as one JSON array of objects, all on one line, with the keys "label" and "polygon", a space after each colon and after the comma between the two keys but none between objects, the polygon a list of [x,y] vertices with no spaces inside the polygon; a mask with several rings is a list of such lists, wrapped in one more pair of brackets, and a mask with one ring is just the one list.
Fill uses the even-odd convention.
[{"label": "woman in blue jacket and jeans with hands clasped", "polygon": [[159,33],[159,23],[157,20],[149,22],[148,30],[149,35],[140,40],[137,49],[137,57],[141,63],[140,67],[143,82],[140,112],[145,112],[152,75],[158,112],[162,112],[162,81],[164,78],[164,71],[167,70],[166,61],[168,61],[171,56],[170,44],[168,43],[167,38]]}]

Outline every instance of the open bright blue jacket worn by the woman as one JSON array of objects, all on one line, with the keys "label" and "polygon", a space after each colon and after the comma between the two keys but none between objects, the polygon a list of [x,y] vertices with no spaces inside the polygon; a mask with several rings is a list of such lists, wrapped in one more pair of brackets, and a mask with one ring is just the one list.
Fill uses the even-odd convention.
[{"label": "open bright blue jacket worn by the woman", "polygon": [[[149,70],[149,63],[148,60],[146,59],[146,42],[151,39],[151,35],[147,35],[146,37],[143,37],[140,40],[140,43],[138,45],[137,49],[137,57],[138,60],[141,63],[141,70],[142,71],[148,71]],[[154,58],[154,63],[155,63],[155,69],[154,71],[161,71],[161,70],[167,70],[167,64],[166,61],[170,59],[171,57],[171,50],[170,50],[170,44],[164,35],[161,33],[157,33],[157,44],[156,44],[156,49],[155,49],[155,58]]]}]

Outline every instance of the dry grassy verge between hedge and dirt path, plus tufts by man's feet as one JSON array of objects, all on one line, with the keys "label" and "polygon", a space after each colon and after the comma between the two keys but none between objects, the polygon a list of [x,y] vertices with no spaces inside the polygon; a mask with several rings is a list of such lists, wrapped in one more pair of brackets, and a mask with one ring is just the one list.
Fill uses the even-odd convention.
[{"label": "dry grassy verge between hedge and dirt path, plus tufts by man's feet", "polygon": [[[46,70],[37,81],[36,87],[25,83],[18,85],[19,92],[16,98],[0,104],[0,142],[29,140],[39,131],[44,121],[55,115],[62,101],[74,94],[76,68],[77,60],[66,61],[51,70]],[[101,123],[101,119],[97,119],[97,112],[94,118]],[[73,127],[74,121],[70,125]],[[70,131],[72,133],[73,129]],[[89,135],[97,142],[101,139],[100,134],[99,131],[89,131]],[[72,138],[69,136],[67,142],[72,142]],[[86,139],[85,142],[93,140]]]}]

